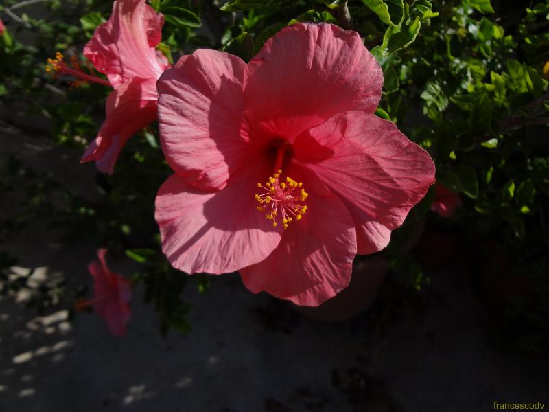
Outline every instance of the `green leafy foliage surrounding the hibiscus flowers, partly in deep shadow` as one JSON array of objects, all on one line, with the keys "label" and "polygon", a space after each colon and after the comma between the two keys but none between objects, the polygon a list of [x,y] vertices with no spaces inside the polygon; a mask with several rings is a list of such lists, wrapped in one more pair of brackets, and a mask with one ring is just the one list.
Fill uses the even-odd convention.
[{"label": "green leafy foliage surrounding the hibiscus flowers, partly in deep shadow", "polygon": [[[108,89],[52,79],[45,60],[58,50],[84,60],[82,47],[108,19],[111,4],[4,1],[4,124],[25,133],[40,132],[36,125],[45,124],[56,144],[80,151],[95,137]],[[511,289],[527,286],[522,297],[496,308],[502,330],[515,331],[516,343],[526,350],[547,346],[549,0],[151,0],[150,5],[165,15],[159,49],[170,62],[200,47],[248,61],[267,38],[298,21],[357,31],[384,72],[377,115],[428,150],[436,162],[437,183],[463,199],[453,218],[440,218],[429,211],[432,187],[382,253],[409,274],[410,289],[421,293],[429,278],[413,257],[398,253],[402,244],[425,218],[428,230],[458,233],[465,244],[460,252],[471,258],[480,290],[492,285],[487,277],[496,284],[511,282]],[[163,258],[154,222],[154,196],[170,172],[156,125],[139,134],[124,148],[112,176],[97,174],[99,201],[64,190],[62,207],[53,207],[47,195],[55,184],[51,176],[31,176],[16,155],[3,161],[2,192],[14,190],[21,179],[33,183],[24,210],[2,222],[1,241],[9,241],[25,222],[49,214],[56,225],[69,229],[72,240],[91,238],[139,262],[142,269],[133,280],[145,285],[145,299],[159,313],[161,331],[187,331],[189,305],[180,299],[187,277]],[[2,255],[0,263],[6,268],[12,260]],[[207,277],[191,279],[200,291],[209,287]],[[8,282],[3,292],[18,287]],[[70,304],[78,293],[65,291],[60,300]]]}]

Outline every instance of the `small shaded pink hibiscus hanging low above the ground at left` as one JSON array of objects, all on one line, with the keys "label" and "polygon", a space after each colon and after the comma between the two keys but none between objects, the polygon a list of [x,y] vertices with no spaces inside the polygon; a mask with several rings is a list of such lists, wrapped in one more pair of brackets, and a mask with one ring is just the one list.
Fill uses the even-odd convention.
[{"label": "small shaded pink hibiscus hanging low above the ground at left", "polygon": [[93,299],[78,302],[76,308],[93,305],[95,312],[104,317],[110,333],[122,336],[126,333],[126,323],[130,320],[132,288],[124,276],[110,271],[105,261],[106,253],[107,249],[99,249],[99,262],[93,260],[88,265],[93,276]]}]

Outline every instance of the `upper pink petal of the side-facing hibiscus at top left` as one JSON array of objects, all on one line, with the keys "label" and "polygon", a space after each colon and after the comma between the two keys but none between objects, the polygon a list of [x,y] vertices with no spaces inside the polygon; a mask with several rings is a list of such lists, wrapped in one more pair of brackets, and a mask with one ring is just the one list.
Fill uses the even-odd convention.
[{"label": "upper pink petal of the side-facing hibiscus at top left", "polygon": [[158,79],[165,66],[156,58],[164,23],[144,0],[118,0],[108,21],[95,30],[84,56],[105,73],[113,87],[132,77]]}]

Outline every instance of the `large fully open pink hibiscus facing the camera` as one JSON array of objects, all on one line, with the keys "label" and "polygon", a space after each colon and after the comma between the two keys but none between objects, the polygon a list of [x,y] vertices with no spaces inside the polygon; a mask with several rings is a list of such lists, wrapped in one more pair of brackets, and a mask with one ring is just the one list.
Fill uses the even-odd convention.
[{"label": "large fully open pink hibiscus facing the camera", "polygon": [[374,115],[382,83],[360,36],[329,24],[286,27],[248,65],[197,50],[165,71],[175,174],[156,220],[172,266],[238,270],[306,306],[345,288],[355,255],[386,247],[434,182],[428,153]]}]

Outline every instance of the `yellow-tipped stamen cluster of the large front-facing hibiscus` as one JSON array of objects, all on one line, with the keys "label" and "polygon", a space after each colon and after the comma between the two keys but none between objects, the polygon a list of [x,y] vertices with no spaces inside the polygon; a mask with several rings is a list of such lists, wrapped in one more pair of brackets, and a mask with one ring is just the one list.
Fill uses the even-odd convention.
[{"label": "yellow-tipped stamen cluster of the large front-facing hibiscus", "polygon": [[272,220],[272,226],[277,227],[277,218],[282,220],[284,229],[288,229],[290,222],[301,220],[307,212],[307,206],[301,205],[309,194],[303,189],[303,183],[294,181],[290,176],[281,181],[282,170],[277,170],[274,176],[270,176],[265,185],[257,183],[257,187],[266,192],[255,195],[259,202],[257,210],[264,212],[268,220]]}]

